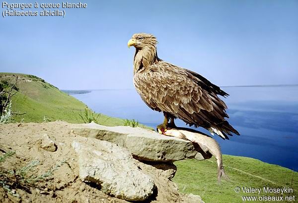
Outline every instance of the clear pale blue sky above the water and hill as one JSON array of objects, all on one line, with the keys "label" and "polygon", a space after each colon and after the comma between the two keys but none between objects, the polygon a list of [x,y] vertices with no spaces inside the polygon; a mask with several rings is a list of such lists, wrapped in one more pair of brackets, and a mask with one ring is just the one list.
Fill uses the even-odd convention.
[{"label": "clear pale blue sky above the water and hill", "polygon": [[218,85],[298,84],[298,0],[82,2],[65,18],[0,17],[0,71],[61,89],[133,88],[127,41],[148,32],[161,59]]}]

